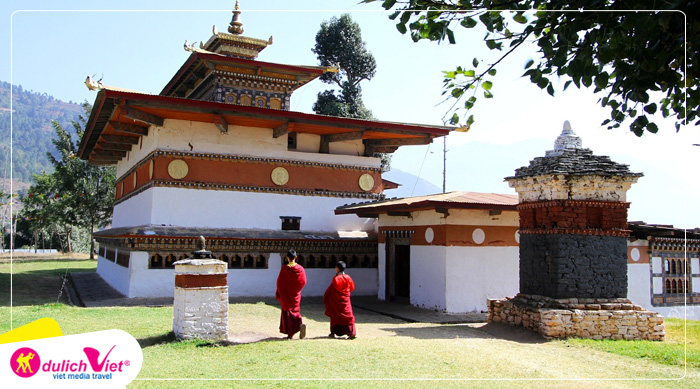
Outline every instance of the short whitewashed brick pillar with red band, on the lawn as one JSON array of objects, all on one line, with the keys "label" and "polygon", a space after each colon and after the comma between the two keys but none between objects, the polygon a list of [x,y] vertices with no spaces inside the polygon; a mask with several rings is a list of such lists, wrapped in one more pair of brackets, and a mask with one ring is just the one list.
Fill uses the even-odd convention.
[{"label": "short whitewashed brick pillar with red band, on the lawn", "polygon": [[175,262],[173,332],[177,339],[222,340],[228,335],[228,269],[214,259]]}]

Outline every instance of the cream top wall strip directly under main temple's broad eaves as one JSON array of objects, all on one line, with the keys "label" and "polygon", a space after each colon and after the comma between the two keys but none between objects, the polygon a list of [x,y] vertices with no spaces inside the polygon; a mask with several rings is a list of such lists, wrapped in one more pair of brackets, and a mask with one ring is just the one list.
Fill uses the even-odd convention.
[{"label": "cream top wall strip directly under main temple's broad eaves", "polygon": [[212,123],[166,119],[163,127],[151,126],[148,135],[141,138],[128,153],[128,158],[117,164],[117,177],[121,177],[148,154],[156,149],[213,153],[226,155],[279,158],[298,161],[346,164],[379,168],[381,159],[363,157],[361,141],[333,142],[329,154],[319,154],[318,135],[298,134],[297,150],[287,149],[287,137],[274,138],[269,128],[229,126],[227,134]]}]

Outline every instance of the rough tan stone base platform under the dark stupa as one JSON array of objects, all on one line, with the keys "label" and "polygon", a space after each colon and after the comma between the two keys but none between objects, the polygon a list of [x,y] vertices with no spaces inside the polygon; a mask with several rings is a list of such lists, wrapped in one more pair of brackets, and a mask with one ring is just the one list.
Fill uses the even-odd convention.
[{"label": "rough tan stone base platform under the dark stupa", "polygon": [[571,298],[518,294],[487,300],[489,323],[507,323],[547,339],[664,340],[664,319],[629,299]]}]

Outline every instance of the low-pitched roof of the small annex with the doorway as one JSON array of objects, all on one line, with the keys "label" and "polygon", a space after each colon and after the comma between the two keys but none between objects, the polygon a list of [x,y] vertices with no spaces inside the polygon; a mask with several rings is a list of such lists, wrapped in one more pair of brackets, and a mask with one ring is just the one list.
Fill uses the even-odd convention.
[{"label": "low-pitched roof of the small annex with the doorway", "polygon": [[487,209],[515,211],[518,196],[499,193],[449,192],[428,196],[406,197],[349,204],[336,208],[336,215],[357,214],[377,217],[380,214],[400,215],[412,211],[449,209]]}]

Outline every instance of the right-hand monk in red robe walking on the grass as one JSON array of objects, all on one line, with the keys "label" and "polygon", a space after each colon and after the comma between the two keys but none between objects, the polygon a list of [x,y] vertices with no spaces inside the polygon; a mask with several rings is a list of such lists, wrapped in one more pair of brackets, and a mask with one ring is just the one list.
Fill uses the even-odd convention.
[{"label": "right-hand monk in red robe walking on the grass", "polygon": [[331,318],[331,333],[328,337],[347,335],[348,339],[355,339],[355,315],[350,303],[350,292],[355,290],[355,283],[345,274],[345,262],[338,261],[335,272],[331,285],[323,295],[326,316]]}]

